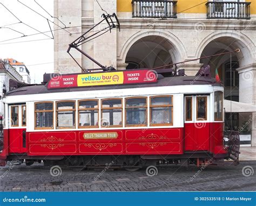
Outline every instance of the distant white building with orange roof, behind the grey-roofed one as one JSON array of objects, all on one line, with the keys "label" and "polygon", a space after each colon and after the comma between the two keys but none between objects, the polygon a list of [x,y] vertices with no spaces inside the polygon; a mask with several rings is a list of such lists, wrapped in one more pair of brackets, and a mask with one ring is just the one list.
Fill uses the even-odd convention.
[{"label": "distant white building with orange roof, behind the grey-roofed one", "polygon": [[30,78],[30,75],[29,75],[29,70],[28,68],[26,68],[26,66],[24,65],[23,62],[20,62],[20,61],[17,61],[15,59],[4,59],[4,61],[6,63],[9,63],[12,67],[15,68],[15,70],[21,74],[22,76],[22,81],[24,83],[28,83],[30,84],[31,83],[31,78]]}]

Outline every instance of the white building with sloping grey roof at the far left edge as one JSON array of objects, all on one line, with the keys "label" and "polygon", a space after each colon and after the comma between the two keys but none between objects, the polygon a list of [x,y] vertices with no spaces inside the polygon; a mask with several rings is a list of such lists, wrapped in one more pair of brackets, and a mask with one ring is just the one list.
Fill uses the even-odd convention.
[{"label": "white building with sloping grey roof at the far left edge", "polygon": [[19,74],[7,60],[3,61],[0,59],[0,128],[2,128],[2,119],[4,115],[2,97],[11,89],[10,80],[23,81],[22,75]]}]

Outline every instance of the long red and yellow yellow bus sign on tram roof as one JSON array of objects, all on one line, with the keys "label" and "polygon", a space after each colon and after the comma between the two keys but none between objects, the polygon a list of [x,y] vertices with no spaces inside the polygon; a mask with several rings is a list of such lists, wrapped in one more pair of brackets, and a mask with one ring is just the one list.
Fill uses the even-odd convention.
[{"label": "long red and yellow yellow bus sign on tram roof", "polygon": [[152,70],[136,70],[122,72],[55,74],[47,88],[70,88],[86,86],[106,86],[125,84],[149,84],[157,82],[157,74]]}]

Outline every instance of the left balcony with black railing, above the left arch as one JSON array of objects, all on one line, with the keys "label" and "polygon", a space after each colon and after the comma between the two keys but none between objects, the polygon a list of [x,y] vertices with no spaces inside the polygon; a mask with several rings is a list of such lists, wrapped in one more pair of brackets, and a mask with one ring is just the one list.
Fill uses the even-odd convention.
[{"label": "left balcony with black railing, above the left arch", "polygon": [[132,17],[177,18],[177,1],[132,0]]}]

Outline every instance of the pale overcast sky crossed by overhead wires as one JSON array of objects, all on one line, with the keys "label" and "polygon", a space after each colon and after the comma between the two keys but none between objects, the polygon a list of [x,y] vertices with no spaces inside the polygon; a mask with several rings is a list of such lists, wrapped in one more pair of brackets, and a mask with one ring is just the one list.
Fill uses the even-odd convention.
[{"label": "pale overcast sky crossed by overhead wires", "polygon": [[54,40],[49,27],[53,30],[53,0],[18,1],[0,0],[0,58],[23,62],[30,71],[31,83],[41,83],[43,74],[54,69]]}]

